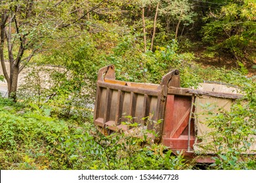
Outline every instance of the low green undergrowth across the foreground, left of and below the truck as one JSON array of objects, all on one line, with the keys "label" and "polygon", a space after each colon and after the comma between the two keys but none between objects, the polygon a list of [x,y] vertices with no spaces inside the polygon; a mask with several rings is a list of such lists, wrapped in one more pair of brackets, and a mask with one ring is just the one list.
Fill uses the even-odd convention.
[{"label": "low green undergrowth across the foreground, left of and below the truck", "polygon": [[104,136],[91,122],[51,117],[51,108],[1,98],[0,109],[1,169],[189,168],[161,145],[142,148],[142,139],[125,133]]}]

